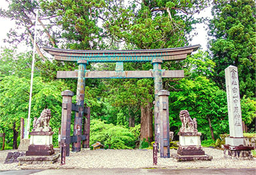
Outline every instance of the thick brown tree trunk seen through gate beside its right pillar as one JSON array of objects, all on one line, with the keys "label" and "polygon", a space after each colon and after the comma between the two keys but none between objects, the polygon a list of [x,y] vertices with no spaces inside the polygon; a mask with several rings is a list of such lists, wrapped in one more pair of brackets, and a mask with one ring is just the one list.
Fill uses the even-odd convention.
[{"label": "thick brown tree trunk seen through gate beside its right pillar", "polygon": [[148,142],[152,142],[153,139],[153,111],[152,103],[149,103],[146,106],[140,106],[141,111],[141,120],[140,120],[140,140],[146,139]]}]

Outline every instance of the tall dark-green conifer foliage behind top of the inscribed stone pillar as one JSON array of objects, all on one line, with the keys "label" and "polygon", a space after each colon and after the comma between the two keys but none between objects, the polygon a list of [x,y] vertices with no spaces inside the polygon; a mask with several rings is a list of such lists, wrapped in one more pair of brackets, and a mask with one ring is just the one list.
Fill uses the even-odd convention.
[{"label": "tall dark-green conifer foliage behind top of the inscribed stone pillar", "polygon": [[254,0],[214,1],[210,50],[216,62],[212,79],[225,87],[225,68],[238,67],[241,96],[255,97],[256,3]]}]

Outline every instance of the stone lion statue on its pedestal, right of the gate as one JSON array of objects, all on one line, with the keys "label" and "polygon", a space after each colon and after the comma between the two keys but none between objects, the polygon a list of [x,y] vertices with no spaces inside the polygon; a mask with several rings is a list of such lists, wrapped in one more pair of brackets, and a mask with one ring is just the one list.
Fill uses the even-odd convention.
[{"label": "stone lion statue on its pedestal, right of the gate", "polygon": [[180,145],[177,154],[172,154],[172,158],[177,161],[193,161],[193,160],[212,160],[211,155],[206,155],[202,150],[200,135],[197,131],[197,118],[193,120],[189,116],[187,110],[180,111],[180,120],[182,128],[178,135],[180,136]]}]

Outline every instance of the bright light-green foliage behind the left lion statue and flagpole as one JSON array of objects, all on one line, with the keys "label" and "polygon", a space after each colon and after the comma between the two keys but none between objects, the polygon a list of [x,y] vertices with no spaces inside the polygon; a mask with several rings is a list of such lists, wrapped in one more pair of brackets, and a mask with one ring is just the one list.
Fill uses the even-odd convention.
[{"label": "bright light-green foliage behind the left lion statue and flagpole", "polygon": [[[12,144],[12,126],[16,123],[19,131],[20,118],[27,118],[29,105],[30,79],[9,75],[0,81],[0,132],[6,133],[7,144]],[[33,100],[31,116],[39,117],[43,109],[51,109],[52,119],[50,125],[56,133],[57,139],[59,124],[61,122],[61,90],[63,83],[55,81],[44,83],[40,77],[35,77],[33,84]],[[31,119],[33,121],[33,118]],[[55,142],[57,144],[57,142]]]}]

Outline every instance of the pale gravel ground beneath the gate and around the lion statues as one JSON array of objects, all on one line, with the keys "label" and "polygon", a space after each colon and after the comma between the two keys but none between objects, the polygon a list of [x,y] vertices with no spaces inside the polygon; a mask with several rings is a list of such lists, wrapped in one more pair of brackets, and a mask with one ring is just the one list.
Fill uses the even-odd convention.
[{"label": "pale gravel ground beneath the gate and around the lion statues", "polygon": [[[157,166],[153,166],[152,150],[82,150],[71,152],[66,157],[66,165],[22,165],[18,163],[4,164],[10,150],[0,151],[0,170],[44,169],[44,168],[256,168],[256,159],[237,160],[224,159],[223,151],[204,148],[212,161],[177,162],[175,159],[158,157]],[[176,150],[170,150],[170,154]]]}]

